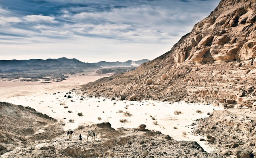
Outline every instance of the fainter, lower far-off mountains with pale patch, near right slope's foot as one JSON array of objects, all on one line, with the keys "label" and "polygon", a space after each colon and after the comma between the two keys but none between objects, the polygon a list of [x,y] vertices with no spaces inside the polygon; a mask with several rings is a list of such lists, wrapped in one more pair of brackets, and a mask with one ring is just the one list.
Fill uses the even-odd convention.
[{"label": "fainter, lower far-off mountains with pale patch, near right slope's foot", "polygon": [[126,62],[97,62],[97,63],[92,63],[95,64],[97,66],[103,66],[103,67],[120,67],[120,66],[140,66],[141,64],[148,62],[150,60],[148,59],[142,59],[142,60],[138,60],[138,61],[132,61],[132,60],[127,60]]}]

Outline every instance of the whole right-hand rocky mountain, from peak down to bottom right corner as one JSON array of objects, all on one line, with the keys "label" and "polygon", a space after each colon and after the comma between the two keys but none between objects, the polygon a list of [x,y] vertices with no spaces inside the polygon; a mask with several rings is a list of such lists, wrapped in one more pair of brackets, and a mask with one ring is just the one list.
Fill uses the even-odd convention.
[{"label": "whole right-hand rocky mountain, from peak down to bottom right corner", "polygon": [[84,90],[127,100],[223,106],[225,110],[199,120],[195,133],[212,134],[212,146],[222,156],[254,157],[256,0],[222,0],[169,52],[132,72],[89,83]]}]

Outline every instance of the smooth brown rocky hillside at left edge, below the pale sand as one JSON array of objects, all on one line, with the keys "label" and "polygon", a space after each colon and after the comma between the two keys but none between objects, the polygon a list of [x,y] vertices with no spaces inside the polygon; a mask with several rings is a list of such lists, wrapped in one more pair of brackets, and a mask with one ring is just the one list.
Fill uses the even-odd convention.
[{"label": "smooth brown rocky hillside at left edge, below the pale sand", "polygon": [[32,108],[6,102],[0,102],[0,124],[0,155],[64,132],[57,120]]}]

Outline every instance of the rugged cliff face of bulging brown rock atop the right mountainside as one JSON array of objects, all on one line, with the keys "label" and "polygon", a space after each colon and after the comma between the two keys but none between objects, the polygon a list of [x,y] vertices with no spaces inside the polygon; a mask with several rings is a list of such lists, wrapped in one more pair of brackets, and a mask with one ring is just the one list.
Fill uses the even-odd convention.
[{"label": "rugged cliff face of bulging brown rock atop the right mountainside", "polygon": [[255,17],[255,0],[222,0],[170,53],[178,63],[254,60]]}]

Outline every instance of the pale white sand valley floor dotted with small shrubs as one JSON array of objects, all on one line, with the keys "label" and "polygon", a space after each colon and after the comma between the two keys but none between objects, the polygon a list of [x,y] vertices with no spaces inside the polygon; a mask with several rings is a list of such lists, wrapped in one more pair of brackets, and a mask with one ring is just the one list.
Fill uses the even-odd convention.
[{"label": "pale white sand valley floor dotted with small shrubs", "polygon": [[[136,128],[140,124],[146,124],[148,129],[168,134],[175,140],[194,140],[207,152],[214,150],[207,146],[208,142],[199,141],[202,136],[191,135],[194,126],[190,125],[198,118],[207,117],[207,113],[212,112],[213,108],[215,110],[221,110],[222,108],[205,104],[186,104],[184,102],[169,104],[169,102],[152,100],[144,100],[142,102],[117,101],[107,98],[84,98],[80,100],[75,91],[70,91],[72,92],[71,94],[66,94],[69,92],[67,90],[102,76],[90,75],[87,76],[87,80],[85,77],[72,76],[63,82],[43,85],[38,83],[26,83],[23,85],[20,82],[8,86],[0,84],[0,90],[3,90],[3,93],[0,94],[0,101],[30,106],[38,112],[62,120],[66,123],[64,130],[74,130],[80,124],[90,125],[100,122],[110,122],[113,128]],[[3,81],[0,83],[3,83]],[[14,95],[12,95],[12,90]],[[56,95],[53,95],[53,93],[56,93]],[[68,99],[64,95],[70,95],[73,98]],[[105,101],[103,101],[104,99]],[[71,100],[74,102],[71,102]],[[60,103],[65,103],[65,105],[60,105]],[[64,106],[68,106],[68,108],[64,108]],[[71,110],[72,113],[68,113],[68,110]],[[128,111],[132,116],[124,116],[123,113],[118,113],[119,110]],[[182,114],[175,115],[175,110],[181,111]],[[202,113],[199,114],[196,110],[201,110]],[[78,112],[82,112],[83,116],[78,116]],[[150,116],[154,117],[155,120],[152,120]],[[101,120],[98,120],[98,117]],[[70,123],[69,119],[74,119],[74,123]],[[121,123],[120,119],[127,119],[128,122]],[[158,125],[153,124],[154,121],[157,121]],[[177,129],[173,127],[177,127]],[[186,132],[185,136],[182,134],[183,132]]]}]

